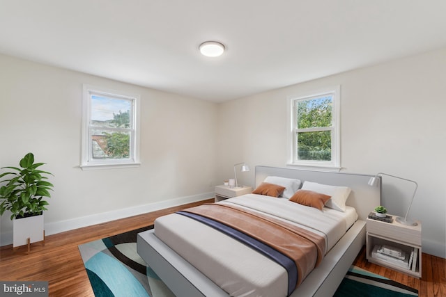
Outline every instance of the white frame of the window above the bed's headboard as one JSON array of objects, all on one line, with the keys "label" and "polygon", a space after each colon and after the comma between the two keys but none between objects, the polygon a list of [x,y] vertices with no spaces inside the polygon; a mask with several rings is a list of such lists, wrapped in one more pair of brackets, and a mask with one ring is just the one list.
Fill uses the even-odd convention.
[{"label": "white frame of the window above the bed's headboard", "polygon": [[[324,95],[332,95],[332,126],[324,129],[317,129],[318,131],[331,131],[331,147],[332,160],[331,161],[311,161],[298,160],[297,154],[297,127],[295,119],[296,102],[311,99],[313,97],[322,97]],[[288,131],[287,131],[287,154],[288,166],[302,167],[305,169],[323,169],[328,171],[339,171],[341,169],[341,141],[340,141],[340,102],[341,102],[341,86],[334,86],[331,88],[321,88],[318,90],[299,93],[288,97]]]}]

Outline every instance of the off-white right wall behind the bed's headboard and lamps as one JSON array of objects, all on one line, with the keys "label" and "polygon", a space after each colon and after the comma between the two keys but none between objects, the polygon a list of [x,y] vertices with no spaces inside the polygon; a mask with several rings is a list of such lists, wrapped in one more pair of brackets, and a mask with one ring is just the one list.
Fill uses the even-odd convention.
[{"label": "off-white right wall behind the bed's headboard and lamps", "polygon": [[[217,180],[232,164],[286,166],[287,97],[341,86],[343,172],[418,182],[409,217],[422,220],[423,252],[446,257],[446,48],[220,104]],[[254,170],[238,175],[253,184]],[[413,184],[383,177],[383,201],[403,215]]]}]

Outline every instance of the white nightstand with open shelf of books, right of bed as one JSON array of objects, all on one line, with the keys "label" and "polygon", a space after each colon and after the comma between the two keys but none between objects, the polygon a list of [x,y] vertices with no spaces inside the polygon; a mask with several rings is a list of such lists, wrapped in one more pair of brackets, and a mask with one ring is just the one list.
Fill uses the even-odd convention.
[{"label": "white nightstand with open shelf of books, right of bed", "polygon": [[395,218],[397,216],[392,216],[392,223],[367,218],[367,260],[421,278],[421,222],[406,226]]}]

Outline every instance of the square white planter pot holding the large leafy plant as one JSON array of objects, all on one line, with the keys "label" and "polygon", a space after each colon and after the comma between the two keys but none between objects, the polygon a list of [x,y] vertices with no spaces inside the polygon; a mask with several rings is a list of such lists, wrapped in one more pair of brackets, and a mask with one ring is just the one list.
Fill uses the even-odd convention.
[{"label": "square white planter pot holding the large leafy plant", "polygon": [[13,219],[13,248],[43,241],[43,214]]}]

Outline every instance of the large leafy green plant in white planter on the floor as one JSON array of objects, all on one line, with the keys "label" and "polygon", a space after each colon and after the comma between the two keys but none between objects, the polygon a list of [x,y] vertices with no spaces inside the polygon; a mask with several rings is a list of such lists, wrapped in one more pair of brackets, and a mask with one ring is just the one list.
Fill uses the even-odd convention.
[{"label": "large leafy green plant in white planter on the floor", "polygon": [[20,168],[1,168],[9,171],[0,175],[0,216],[6,210],[11,212],[14,247],[43,241],[43,211],[49,204],[44,198],[51,197],[49,191],[54,187],[45,180],[52,173],[38,170],[45,163],[34,163],[31,152],[19,164]]}]

